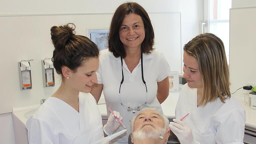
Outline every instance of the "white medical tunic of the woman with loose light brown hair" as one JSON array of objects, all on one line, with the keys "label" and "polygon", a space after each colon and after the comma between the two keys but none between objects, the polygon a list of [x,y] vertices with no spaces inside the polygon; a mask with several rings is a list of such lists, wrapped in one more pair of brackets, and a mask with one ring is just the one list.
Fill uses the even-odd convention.
[{"label": "white medical tunic of the woman with loose light brown hair", "polygon": [[243,144],[245,111],[235,98],[227,98],[197,107],[197,89],[185,84],[175,109],[176,119],[189,113],[183,121],[201,144]]}]

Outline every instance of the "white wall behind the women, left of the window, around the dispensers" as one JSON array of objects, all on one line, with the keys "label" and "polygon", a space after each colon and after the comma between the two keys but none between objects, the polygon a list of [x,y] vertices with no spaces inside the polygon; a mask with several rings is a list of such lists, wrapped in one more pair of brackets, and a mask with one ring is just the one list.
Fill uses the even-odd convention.
[{"label": "white wall behind the women, left of the window, around the dispensers", "polygon": [[[60,84],[60,77],[55,74],[55,87],[43,88],[41,60],[46,57],[52,57],[54,48],[50,39],[50,27],[59,25],[58,21],[63,24],[69,21],[63,20],[63,16],[44,16],[45,14],[88,13],[82,20],[78,19],[78,22],[74,22],[77,24],[77,34],[86,35],[86,31],[83,28],[109,27],[111,15],[114,13],[116,7],[123,2],[125,1],[110,1],[108,3],[103,0],[97,2],[81,1],[81,3],[80,1],[76,1],[73,4],[69,4],[68,1],[59,1],[60,4],[57,4],[57,2],[50,2],[49,0],[39,1],[37,3],[32,0],[26,1],[26,3],[24,1],[22,3],[19,1],[3,2],[0,8],[2,14],[0,22],[3,24],[0,29],[2,34],[0,38],[3,40],[2,52],[4,55],[0,58],[2,61],[0,67],[2,69],[1,73],[4,75],[2,78],[4,82],[0,83],[0,87],[2,88],[2,94],[0,95],[2,98],[2,101],[0,101],[0,114],[12,112],[12,107],[38,104],[40,99],[48,98],[52,95]],[[163,0],[158,3],[153,3],[153,0],[138,0],[136,2],[141,3],[148,11],[152,17],[153,25],[156,26],[155,47],[166,54],[167,60],[174,62],[172,70],[181,72],[180,2],[177,0]],[[98,7],[100,3],[105,4],[104,6],[101,4]],[[43,14],[43,16],[14,16],[16,14]],[[101,17],[99,18],[98,16]],[[52,20],[52,17],[56,21],[55,19]],[[69,17],[72,18],[72,16]],[[100,20],[101,18],[102,21]],[[177,21],[171,23],[173,18],[177,18]],[[38,21],[34,22],[34,19]],[[84,25],[79,26],[78,23],[84,23]],[[46,29],[45,25],[49,24],[52,25]],[[166,29],[161,25],[165,26]],[[168,30],[172,31],[166,33]],[[177,36],[170,38],[167,35],[164,37],[166,34],[173,35],[173,33],[177,33]],[[174,40],[175,43],[178,41],[178,44],[170,47],[168,45],[170,40],[168,39]],[[170,51],[173,53],[170,53]],[[17,62],[27,59],[34,59],[34,61],[30,62],[32,90],[20,91]],[[7,61],[8,64],[4,61]]]}]

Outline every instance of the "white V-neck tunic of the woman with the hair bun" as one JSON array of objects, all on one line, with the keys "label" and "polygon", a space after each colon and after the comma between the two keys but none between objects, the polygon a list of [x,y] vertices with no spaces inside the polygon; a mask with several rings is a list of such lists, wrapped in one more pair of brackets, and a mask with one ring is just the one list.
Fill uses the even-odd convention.
[{"label": "white V-neck tunic of the woman with the hair bun", "polygon": [[79,94],[79,113],[64,101],[49,97],[26,123],[29,144],[89,144],[104,137],[94,97]]}]

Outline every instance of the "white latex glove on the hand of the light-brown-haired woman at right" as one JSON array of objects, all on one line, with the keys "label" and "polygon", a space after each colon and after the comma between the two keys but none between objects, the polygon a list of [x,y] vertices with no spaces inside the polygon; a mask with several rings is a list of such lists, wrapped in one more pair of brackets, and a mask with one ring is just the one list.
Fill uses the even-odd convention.
[{"label": "white latex glove on the hand of the light-brown-haired woman at right", "polygon": [[184,122],[177,119],[173,121],[170,122],[169,127],[181,144],[200,144],[194,139],[191,129]]}]

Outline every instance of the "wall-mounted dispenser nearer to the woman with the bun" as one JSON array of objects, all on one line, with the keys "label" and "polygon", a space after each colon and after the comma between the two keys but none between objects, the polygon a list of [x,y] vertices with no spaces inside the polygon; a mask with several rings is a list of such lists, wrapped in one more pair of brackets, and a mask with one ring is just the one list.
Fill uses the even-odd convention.
[{"label": "wall-mounted dispenser nearer to the woman with the bun", "polygon": [[42,60],[43,85],[44,87],[54,87],[54,68],[51,58]]}]

